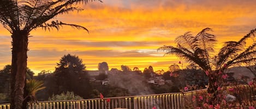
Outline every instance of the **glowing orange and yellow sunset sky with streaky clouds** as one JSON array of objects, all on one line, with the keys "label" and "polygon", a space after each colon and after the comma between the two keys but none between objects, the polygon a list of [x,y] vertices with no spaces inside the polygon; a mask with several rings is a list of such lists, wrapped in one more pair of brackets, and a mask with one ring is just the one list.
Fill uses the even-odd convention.
[{"label": "glowing orange and yellow sunset sky with streaky clouds", "polygon": [[[79,24],[90,30],[63,27],[44,31],[38,28],[29,37],[28,67],[39,73],[54,71],[65,54],[79,56],[87,70],[97,70],[99,62],[110,69],[121,65],[153,66],[164,69],[182,61],[157,52],[163,45],[175,45],[176,36],[186,31],[197,34],[210,27],[219,41],[237,41],[256,28],[256,1],[222,0],[103,0],[82,5],[84,11],[57,16],[53,20]],[[11,64],[11,37],[0,27],[0,69]],[[217,50],[218,51],[218,50]],[[184,63],[184,66],[186,63]],[[184,67],[183,66],[183,67]]]}]

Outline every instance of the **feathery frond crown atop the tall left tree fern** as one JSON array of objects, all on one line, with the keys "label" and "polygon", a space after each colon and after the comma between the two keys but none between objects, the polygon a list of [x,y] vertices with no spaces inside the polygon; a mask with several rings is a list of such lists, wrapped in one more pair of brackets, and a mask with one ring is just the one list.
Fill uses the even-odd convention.
[{"label": "feathery frond crown atop the tall left tree fern", "polygon": [[[101,0],[90,0],[99,1]],[[4,28],[13,32],[15,30],[25,30],[27,32],[41,27],[45,22],[49,22],[53,17],[61,14],[68,14],[73,11],[83,9],[75,7],[78,3],[87,4],[89,0],[27,0],[16,1],[0,0],[0,23]],[[68,24],[75,28],[84,29],[76,24]],[[64,25],[62,24],[62,25]]]}]

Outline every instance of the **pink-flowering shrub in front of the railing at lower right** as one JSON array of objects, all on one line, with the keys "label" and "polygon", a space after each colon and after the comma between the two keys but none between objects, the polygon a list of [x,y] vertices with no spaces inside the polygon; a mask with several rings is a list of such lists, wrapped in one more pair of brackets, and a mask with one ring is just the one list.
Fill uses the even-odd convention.
[{"label": "pink-flowering shrub in front of the railing at lower right", "polygon": [[[209,72],[208,72],[209,73]],[[219,75],[221,74],[221,75]],[[209,73],[211,75],[211,73]],[[184,87],[184,101],[186,109],[254,109],[256,101],[256,81],[249,81],[248,85],[239,85],[238,82],[229,84],[225,79],[227,75],[218,73],[219,78],[217,82],[213,83],[217,87],[214,93],[207,93],[204,91],[194,92],[190,96],[186,96],[187,87]]]}]

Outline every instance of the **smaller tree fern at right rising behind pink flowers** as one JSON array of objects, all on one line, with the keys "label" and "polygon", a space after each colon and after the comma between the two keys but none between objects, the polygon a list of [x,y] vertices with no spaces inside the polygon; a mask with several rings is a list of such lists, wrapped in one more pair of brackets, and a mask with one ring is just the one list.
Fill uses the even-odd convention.
[{"label": "smaller tree fern at right rising behind pink flowers", "polygon": [[[163,46],[158,48],[158,50],[164,50],[166,51],[165,54],[173,54],[188,62],[193,62],[209,73],[209,88],[207,91],[217,95],[215,91],[217,91],[217,87],[223,81],[221,79],[222,75],[218,75],[219,72],[223,72],[224,69],[231,66],[250,62],[255,63],[256,42],[254,41],[254,33],[256,29],[251,30],[249,34],[243,36],[239,41],[225,42],[218,54],[214,54],[214,46],[217,43],[216,36],[207,33],[208,31],[212,31],[212,29],[205,28],[196,36],[186,32],[175,39],[176,47]],[[253,43],[247,46],[246,41],[250,39]],[[215,82],[218,85],[215,85]],[[213,102],[215,99],[216,96],[211,101]]]}]

